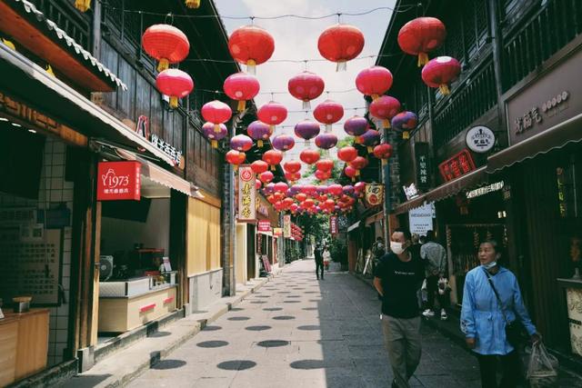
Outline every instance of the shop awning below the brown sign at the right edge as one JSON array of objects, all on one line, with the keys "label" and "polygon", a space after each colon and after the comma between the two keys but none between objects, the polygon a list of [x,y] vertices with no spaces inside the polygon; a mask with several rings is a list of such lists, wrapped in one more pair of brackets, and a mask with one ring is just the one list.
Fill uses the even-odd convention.
[{"label": "shop awning below the brown sign at the right edge", "polygon": [[527,159],[532,159],[538,154],[546,154],[567,144],[579,142],[582,142],[582,114],[489,156],[487,173],[495,173]]}]

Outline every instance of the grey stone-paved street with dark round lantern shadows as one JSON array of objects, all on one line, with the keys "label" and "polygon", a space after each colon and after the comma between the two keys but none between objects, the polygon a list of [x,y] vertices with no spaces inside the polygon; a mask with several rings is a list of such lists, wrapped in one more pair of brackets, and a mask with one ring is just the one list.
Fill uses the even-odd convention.
[{"label": "grey stone-paved street with dark round lantern shadows", "polygon": [[[350,274],[289,265],[130,386],[388,387],[376,293]],[[476,360],[423,326],[413,386],[477,387]]]}]

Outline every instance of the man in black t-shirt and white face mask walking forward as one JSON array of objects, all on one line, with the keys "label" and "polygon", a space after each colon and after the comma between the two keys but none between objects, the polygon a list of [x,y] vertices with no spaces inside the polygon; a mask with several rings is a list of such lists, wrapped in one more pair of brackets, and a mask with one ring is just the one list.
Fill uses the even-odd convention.
[{"label": "man in black t-shirt and white face mask walking forward", "polygon": [[420,316],[416,292],[424,279],[419,257],[412,254],[410,232],[396,229],[391,236],[390,253],[376,266],[374,285],[382,298],[382,330],[390,365],[393,388],[408,388],[408,380],[420,362]]}]

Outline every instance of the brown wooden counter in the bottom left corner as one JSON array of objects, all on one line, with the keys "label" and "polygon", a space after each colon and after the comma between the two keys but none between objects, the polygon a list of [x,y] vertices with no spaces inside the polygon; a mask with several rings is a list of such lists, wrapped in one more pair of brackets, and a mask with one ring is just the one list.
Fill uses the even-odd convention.
[{"label": "brown wooden counter in the bottom left corner", "polygon": [[48,309],[9,313],[0,319],[0,386],[5,386],[46,367]]}]

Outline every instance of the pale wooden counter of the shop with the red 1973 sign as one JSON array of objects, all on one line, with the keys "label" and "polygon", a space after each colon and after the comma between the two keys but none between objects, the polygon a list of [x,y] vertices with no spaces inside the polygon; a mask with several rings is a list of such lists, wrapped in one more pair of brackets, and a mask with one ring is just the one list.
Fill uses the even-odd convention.
[{"label": "pale wooden counter of the shop with the red 1973 sign", "polygon": [[176,284],[162,284],[142,293],[99,296],[101,333],[125,333],[176,310]]}]

